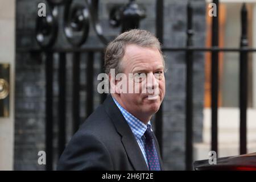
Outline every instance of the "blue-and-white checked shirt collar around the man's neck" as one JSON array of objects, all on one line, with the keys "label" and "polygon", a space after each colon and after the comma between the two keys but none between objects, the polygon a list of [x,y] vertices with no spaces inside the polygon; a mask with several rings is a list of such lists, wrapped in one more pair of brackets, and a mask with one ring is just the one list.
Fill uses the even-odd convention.
[{"label": "blue-and-white checked shirt collar around the man's neck", "polygon": [[148,121],[147,125],[145,125],[142,121],[140,121],[138,118],[136,118],[133,114],[129,113],[127,110],[123,109],[123,107],[112,97],[115,104],[117,105],[118,109],[123,114],[123,117],[125,117],[125,120],[127,121],[128,125],[131,128],[131,131],[135,135],[137,139],[141,139],[144,135],[145,131],[147,130],[147,125],[151,126],[150,121]]}]

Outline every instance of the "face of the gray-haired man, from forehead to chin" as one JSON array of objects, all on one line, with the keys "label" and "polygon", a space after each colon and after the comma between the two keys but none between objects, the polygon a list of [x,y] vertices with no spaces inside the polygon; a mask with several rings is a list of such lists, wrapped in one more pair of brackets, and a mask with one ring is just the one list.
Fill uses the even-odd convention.
[{"label": "face of the gray-haired man, from forehead to chin", "polygon": [[139,88],[139,93],[120,93],[125,109],[135,116],[156,113],[166,89],[163,57],[158,49],[127,45],[121,68],[127,76],[127,90],[131,84]]}]

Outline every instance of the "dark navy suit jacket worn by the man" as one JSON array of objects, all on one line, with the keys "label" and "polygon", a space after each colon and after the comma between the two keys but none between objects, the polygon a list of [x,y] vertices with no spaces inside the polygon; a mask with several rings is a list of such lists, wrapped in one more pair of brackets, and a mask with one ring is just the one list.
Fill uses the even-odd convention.
[{"label": "dark navy suit jacket worn by the man", "polygon": [[[156,138],[155,143],[163,169]],[[57,170],[148,170],[141,148],[111,96],[72,137]]]}]

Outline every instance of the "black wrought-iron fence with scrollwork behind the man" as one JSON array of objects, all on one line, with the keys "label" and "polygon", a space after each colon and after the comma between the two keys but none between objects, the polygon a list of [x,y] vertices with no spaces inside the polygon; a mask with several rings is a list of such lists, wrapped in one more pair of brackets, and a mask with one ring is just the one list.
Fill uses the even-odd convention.
[{"label": "black wrought-iron fence with scrollwork behind the man", "polygon": [[[86,72],[86,114],[87,116],[93,112],[93,59],[97,52],[101,53],[101,69],[104,72],[104,47],[81,48],[88,37],[89,31],[89,14],[92,20],[94,31],[102,43],[108,43],[108,39],[104,36],[101,24],[98,21],[98,0],[85,1],[86,6],[75,6],[71,9],[72,0],[59,1],[48,0],[51,12],[46,17],[40,17],[36,22],[36,39],[38,40],[40,49],[18,49],[21,52],[43,52],[46,55],[46,154],[47,154],[47,170],[52,170],[53,163],[53,53],[59,54],[59,133],[58,148],[59,155],[63,152],[66,143],[66,126],[65,126],[65,107],[66,107],[66,55],[73,54],[73,132],[79,128],[80,121],[80,56],[81,53],[87,54],[87,72]],[[163,0],[157,0],[156,3],[156,36],[163,43]],[[218,132],[217,132],[217,116],[218,116],[218,54],[219,52],[240,52],[240,153],[246,153],[246,107],[247,107],[247,55],[256,49],[247,47],[247,10],[243,3],[241,9],[241,44],[240,48],[220,48],[218,47],[218,1],[214,0],[217,7],[217,15],[212,17],[212,47],[193,47],[193,8],[192,1],[188,1],[187,5],[187,47],[163,47],[163,52],[183,51],[186,53],[187,64],[187,81],[186,81],[186,138],[185,138],[185,164],[186,169],[192,169],[193,162],[193,53],[196,51],[210,52],[211,56],[211,109],[212,109],[212,147],[213,151],[218,151]],[[65,35],[71,43],[72,48],[52,48],[57,38],[57,13],[56,6],[65,6],[64,11],[64,31]],[[110,16],[113,26],[122,26],[122,32],[130,28],[139,28],[139,21],[144,18],[144,11],[139,9],[135,1],[131,0],[126,6],[113,9]],[[152,25],[154,26],[154,25]],[[106,95],[102,94],[101,101],[104,101]],[[156,113],[156,137],[159,140],[162,149],[162,107]]]}]

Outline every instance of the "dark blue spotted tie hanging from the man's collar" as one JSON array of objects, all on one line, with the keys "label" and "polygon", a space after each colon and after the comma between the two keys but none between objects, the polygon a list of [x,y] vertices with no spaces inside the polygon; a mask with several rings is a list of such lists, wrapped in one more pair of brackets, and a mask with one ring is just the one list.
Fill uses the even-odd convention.
[{"label": "dark blue spotted tie hanging from the man's collar", "polygon": [[146,138],[146,153],[148,160],[148,168],[150,171],[160,171],[160,163],[158,158],[158,153],[156,152],[155,144],[154,144],[154,134],[151,131],[151,125],[147,125],[147,130],[144,133],[144,137]]}]

